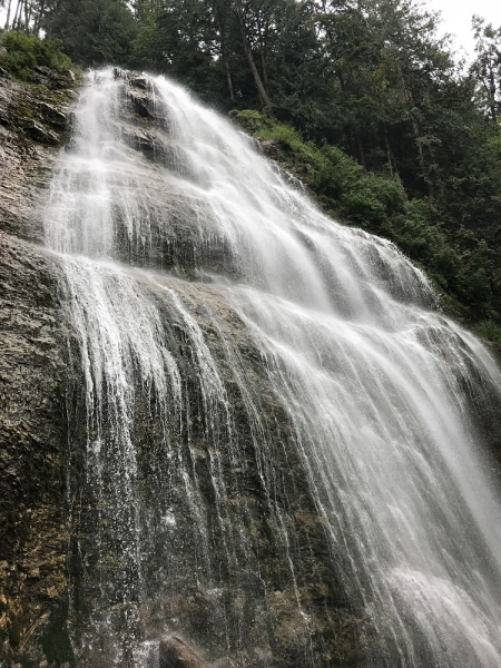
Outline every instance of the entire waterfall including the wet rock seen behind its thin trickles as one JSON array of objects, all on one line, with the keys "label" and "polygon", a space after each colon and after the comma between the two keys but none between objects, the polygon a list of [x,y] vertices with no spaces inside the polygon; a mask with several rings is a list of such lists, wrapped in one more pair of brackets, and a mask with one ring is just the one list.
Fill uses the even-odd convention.
[{"label": "entire waterfall including the wet rock seen behind its thin trickles", "polygon": [[220,667],[500,666],[482,345],[178,86],[91,72],[75,114],[45,220],[84,379],[77,664],[155,666],[175,630]]}]

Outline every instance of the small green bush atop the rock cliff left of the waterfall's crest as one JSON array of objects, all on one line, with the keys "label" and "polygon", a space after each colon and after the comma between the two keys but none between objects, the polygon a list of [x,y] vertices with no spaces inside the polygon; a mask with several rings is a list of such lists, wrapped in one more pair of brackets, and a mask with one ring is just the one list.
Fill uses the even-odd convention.
[{"label": "small green bush atop the rock cliff left of the waterfall's crest", "polygon": [[0,66],[20,80],[28,80],[35,66],[55,70],[71,69],[72,62],[61,52],[61,42],[56,39],[39,39],[20,31],[6,32],[0,45],[7,53],[0,56]]}]

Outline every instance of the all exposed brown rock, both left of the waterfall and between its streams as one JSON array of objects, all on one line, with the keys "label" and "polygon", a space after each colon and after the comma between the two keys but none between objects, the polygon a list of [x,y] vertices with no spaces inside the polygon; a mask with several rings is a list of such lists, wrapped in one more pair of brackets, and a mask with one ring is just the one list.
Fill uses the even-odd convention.
[{"label": "all exposed brown rock, both left of the waterfall and between its streams", "polygon": [[[48,72],[45,76],[50,78]],[[92,581],[97,583],[102,572],[116,568],[114,557],[109,558],[111,561],[101,558],[95,561],[96,500],[77,498],[76,493],[82,488],[86,448],[82,380],[78,363],[75,364],[78,351],[75,336],[68,331],[61,299],[65,279],[59,261],[40,245],[43,238],[41,197],[58,151],[68,137],[73,98],[75,91],[61,89],[60,85],[50,89],[0,77],[0,399],[3,415],[0,428],[0,665],[9,668],[77,665],[70,637],[78,641],[79,625],[85,628],[92,613],[92,597],[97,596]],[[143,79],[130,81],[128,104],[122,132],[129,146],[147,158],[160,153],[164,164],[179,168],[176,156],[156,141],[157,134],[165,128],[155,117],[155,105]],[[289,442],[291,424],[263,372],[259,352],[238,316],[210,285],[195,288],[176,278],[176,275],[196,277],[189,229],[181,219],[178,223],[171,227],[171,238],[161,238],[158,229],[153,262],[158,264],[160,258],[159,264],[171,271],[165,285],[176,287],[191,305],[204,335],[212,342],[213,355],[218,356],[220,369],[226,369],[222,372],[223,380],[236,429],[243,434],[242,450],[236,458],[232,452],[232,438],[224,436],[227,442],[220,443],[219,474],[227,485],[228,504],[224,524],[218,528],[217,503],[212,490],[214,452],[206,440],[208,416],[203,410],[203,390],[196,365],[190,362],[193,351],[189,337],[183,332],[185,325],[171,322],[171,314],[166,314],[170,346],[177,351],[191,402],[186,415],[191,425],[190,441],[180,440],[177,446],[186,450],[183,456],[194,458],[194,471],[200,494],[206,499],[212,527],[210,568],[220,572],[218,588],[209,588],[198,577],[200,554],[188,519],[189,500],[178,480],[169,491],[170,498],[151,510],[155,519],[160,511],[168,513],[174,507],[171,521],[178,527],[178,539],[169,549],[167,564],[161,562],[161,551],[156,554],[155,546],[150,546],[151,553],[145,557],[150,584],[146,601],[135,612],[146,629],[141,631],[146,633],[145,641],[158,641],[169,628],[204,648],[204,656],[218,668],[242,660],[245,666],[256,668],[292,668],[312,661],[322,666],[360,665],[366,645],[362,620],[354,613],[333,572],[322,520],[308,495],[302,463]],[[124,247],[125,254],[132,252]],[[136,262],[141,264],[138,257]],[[213,266],[226,263],[228,272],[233,271],[232,258],[225,256],[225,249],[217,244],[208,250],[206,262]],[[267,490],[263,489],[259,478],[261,464],[256,461],[253,430],[245,410],[247,399],[235,371],[228,366],[225,336],[214,328],[210,310],[217,312],[218,322],[224,323],[223,327],[238,343],[240,364],[244,361],[245,373],[253,376],[258,402],[264,406],[263,420],[273,434],[269,456],[277,473]],[[169,464],[158,450],[163,436],[149,401],[145,389],[138,387],[135,446],[141,494],[146,505],[153,508],[156,494],[165,490],[155,489],[157,478],[151,471]],[[294,536],[288,553],[283,552],[283,544],[277,540],[277,532],[283,531],[276,524],[278,515],[287,524],[287,534]],[[222,533],[226,530],[245,534],[238,544],[248,553],[235,554],[228,561]],[[106,536],[102,540],[106,541]],[[244,560],[245,566],[238,567],[233,559]],[[90,567],[84,567],[84,562]],[[161,583],[160,574],[166,578]],[[156,589],[157,580],[160,589]],[[72,582],[70,589],[69,581]],[[163,591],[160,598],[159,590]],[[115,613],[120,619],[128,615],[127,609],[119,606]],[[107,666],[110,655],[101,646],[78,665]],[[189,659],[185,664],[195,665],[198,660],[195,655],[188,649],[183,650],[181,655],[185,654]],[[134,657],[124,660],[135,665]],[[185,665],[183,657],[176,660],[176,665]]]}]

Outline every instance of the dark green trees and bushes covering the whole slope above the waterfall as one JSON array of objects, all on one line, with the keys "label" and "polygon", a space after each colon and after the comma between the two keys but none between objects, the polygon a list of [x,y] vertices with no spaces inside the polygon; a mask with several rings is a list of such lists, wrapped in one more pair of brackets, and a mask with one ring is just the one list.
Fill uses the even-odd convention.
[{"label": "dark green trees and bushes covering the whole slope above the waterfall", "polygon": [[465,67],[416,0],[20,4],[7,27],[43,28],[82,66],[175,77],[279,140],[327,209],[393,239],[458,315],[499,332],[501,29],[474,18]]}]

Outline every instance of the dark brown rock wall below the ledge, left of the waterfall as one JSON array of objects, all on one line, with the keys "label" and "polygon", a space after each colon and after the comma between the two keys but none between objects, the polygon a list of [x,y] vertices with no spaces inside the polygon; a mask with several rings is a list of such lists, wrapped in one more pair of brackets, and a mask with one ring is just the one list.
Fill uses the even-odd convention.
[{"label": "dark brown rock wall below the ledge, left of the waterfall", "polygon": [[0,233],[0,657],[63,659],[70,651],[63,618],[52,617],[67,606],[68,540],[55,269]]}]

